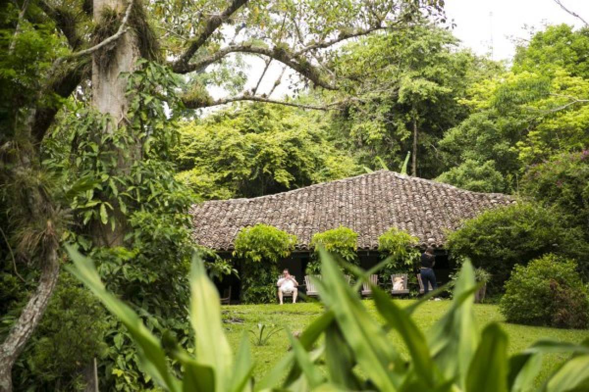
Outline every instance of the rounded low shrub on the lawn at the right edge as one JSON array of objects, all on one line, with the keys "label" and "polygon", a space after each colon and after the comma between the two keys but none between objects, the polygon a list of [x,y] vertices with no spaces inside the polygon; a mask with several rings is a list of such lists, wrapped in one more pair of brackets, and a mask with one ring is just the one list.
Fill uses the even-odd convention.
[{"label": "rounded low shrub on the lawn at the right edge", "polygon": [[501,313],[519,324],[586,328],[589,300],[576,267],[554,254],[515,266],[499,302]]}]

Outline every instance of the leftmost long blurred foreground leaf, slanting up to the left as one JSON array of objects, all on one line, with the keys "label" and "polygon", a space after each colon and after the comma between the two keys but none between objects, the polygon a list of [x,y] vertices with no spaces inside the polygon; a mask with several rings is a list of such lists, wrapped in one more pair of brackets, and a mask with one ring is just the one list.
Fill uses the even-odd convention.
[{"label": "leftmost long blurred foreground leaf, slanting up to the left", "polygon": [[130,307],[106,291],[92,260],[82,256],[72,246],[67,245],[66,249],[74,266],[66,266],[65,268],[84,283],[102,301],[104,306],[127,327],[134,343],[137,344],[143,370],[169,391],[179,392],[180,382],[168,368],[166,355],[161,349],[160,341],[151,334]]}]

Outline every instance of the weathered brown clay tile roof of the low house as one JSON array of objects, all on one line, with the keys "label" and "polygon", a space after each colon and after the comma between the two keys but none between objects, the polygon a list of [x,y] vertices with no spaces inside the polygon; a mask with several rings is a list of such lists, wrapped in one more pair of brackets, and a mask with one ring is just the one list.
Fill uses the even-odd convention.
[{"label": "weathered brown clay tile roof of the low house", "polygon": [[446,230],[483,210],[514,202],[500,193],[477,193],[388,170],[320,183],[253,199],[211,200],[190,209],[192,237],[216,250],[233,249],[242,227],[276,226],[309,249],[315,233],[343,225],[359,233],[358,249],[378,248],[391,227],[406,230],[426,244],[444,247]]}]

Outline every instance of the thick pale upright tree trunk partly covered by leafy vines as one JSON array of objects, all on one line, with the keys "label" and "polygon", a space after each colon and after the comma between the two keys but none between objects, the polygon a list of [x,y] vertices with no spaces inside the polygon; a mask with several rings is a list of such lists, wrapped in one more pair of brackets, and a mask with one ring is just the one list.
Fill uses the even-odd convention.
[{"label": "thick pale upright tree trunk partly covered by leafy vines", "polygon": [[[128,4],[127,0],[94,0],[95,23],[101,23],[101,15],[105,8],[115,9],[122,19]],[[120,78],[120,74],[121,72],[132,73],[135,71],[135,63],[140,58],[137,35],[133,29],[124,33],[109,53],[110,60],[107,63],[101,63],[99,55],[100,53],[94,53],[92,56],[92,106],[98,112],[112,116],[115,120],[115,126],[124,125],[129,101],[125,96],[127,78]],[[114,126],[108,126],[102,132],[112,133],[114,130]],[[131,148],[131,150],[134,149]],[[133,151],[131,151],[131,159],[125,158],[124,153],[118,151],[117,154],[118,173],[128,172],[133,163]],[[126,153],[129,153],[129,151],[126,151]],[[110,223],[103,225],[101,222],[95,222],[91,228],[91,236],[95,244],[120,246],[123,244],[127,232],[127,222],[116,200],[108,201],[114,207],[114,211],[109,213],[114,216],[115,229],[111,229]]]}]

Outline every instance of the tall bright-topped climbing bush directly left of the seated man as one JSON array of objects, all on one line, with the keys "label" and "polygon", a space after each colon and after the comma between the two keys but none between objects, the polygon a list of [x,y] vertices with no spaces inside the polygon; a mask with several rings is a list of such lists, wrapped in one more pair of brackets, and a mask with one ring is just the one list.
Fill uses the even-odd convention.
[{"label": "tall bright-topped climbing bush directly left of the seated man", "polygon": [[271,303],[276,300],[278,260],[288,257],[296,236],[274,226],[244,227],[235,239],[233,256],[241,259],[241,301]]}]

